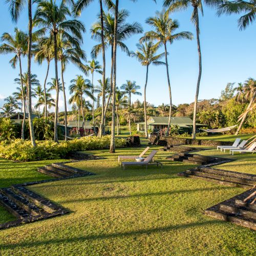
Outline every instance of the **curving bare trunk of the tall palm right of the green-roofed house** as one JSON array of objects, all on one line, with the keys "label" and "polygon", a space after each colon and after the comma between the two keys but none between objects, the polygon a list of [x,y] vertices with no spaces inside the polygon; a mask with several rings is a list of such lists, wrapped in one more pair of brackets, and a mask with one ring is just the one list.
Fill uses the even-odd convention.
[{"label": "curving bare trunk of the tall palm right of the green-roofed house", "polygon": [[199,38],[199,17],[198,17],[198,8],[194,7],[195,14],[196,14],[196,30],[197,30],[197,49],[198,49],[198,57],[199,57],[199,73],[198,73],[198,80],[197,80],[197,91],[194,103],[194,115],[193,115],[193,134],[192,139],[196,139],[196,118],[197,118],[197,101],[198,101],[198,94],[199,94],[199,87],[200,87],[200,80],[202,75],[202,57],[201,57],[201,47],[200,47],[200,38]]}]

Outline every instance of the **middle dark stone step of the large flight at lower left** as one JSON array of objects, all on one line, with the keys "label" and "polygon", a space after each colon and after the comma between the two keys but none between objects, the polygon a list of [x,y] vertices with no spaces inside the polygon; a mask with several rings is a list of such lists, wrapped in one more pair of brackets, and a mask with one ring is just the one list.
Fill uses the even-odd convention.
[{"label": "middle dark stone step of the large flight at lower left", "polygon": [[30,212],[33,216],[44,215],[45,211],[42,208],[39,208],[37,205],[24,198],[20,194],[16,194],[11,188],[1,189],[1,193],[7,196],[12,202],[17,204],[19,207]]}]

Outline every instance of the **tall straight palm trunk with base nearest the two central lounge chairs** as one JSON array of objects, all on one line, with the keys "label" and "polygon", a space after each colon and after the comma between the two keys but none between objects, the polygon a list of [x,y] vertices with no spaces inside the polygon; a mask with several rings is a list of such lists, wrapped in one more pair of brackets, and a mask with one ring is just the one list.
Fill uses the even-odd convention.
[{"label": "tall straight palm trunk with base nearest the two central lounge chairs", "polygon": [[111,140],[110,153],[115,153],[115,103],[116,103],[116,49],[117,49],[117,19],[118,19],[118,4],[116,0],[115,6],[115,25],[114,25],[114,46],[113,46],[113,88],[112,88],[112,124],[111,124]]}]

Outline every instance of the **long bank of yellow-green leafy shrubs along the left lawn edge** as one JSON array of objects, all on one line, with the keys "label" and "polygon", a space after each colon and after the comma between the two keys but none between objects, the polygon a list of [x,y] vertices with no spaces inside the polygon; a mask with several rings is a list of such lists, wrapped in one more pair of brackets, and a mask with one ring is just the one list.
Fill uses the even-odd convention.
[{"label": "long bank of yellow-green leafy shrubs along the left lawn edge", "polygon": [[[123,147],[125,139],[116,139],[116,147]],[[0,142],[0,157],[15,161],[36,161],[65,158],[71,151],[98,150],[110,146],[110,136],[82,137],[70,141],[56,143],[52,140],[36,141],[32,147],[28,140],[16,139],[11,143]]]}]

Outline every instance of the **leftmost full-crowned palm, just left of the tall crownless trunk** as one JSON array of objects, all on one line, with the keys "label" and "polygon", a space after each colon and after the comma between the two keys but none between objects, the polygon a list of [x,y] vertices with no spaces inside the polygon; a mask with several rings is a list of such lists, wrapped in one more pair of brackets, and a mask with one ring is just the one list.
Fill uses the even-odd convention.
[{"label": "leftmost full-crowned palm, just left of the tall crownless trunk", "polygon": [[[9,33],[4,33],[1,37],[1,40],[4,41],[4,44],[0,46],[0,54],[9,54],[13,53],[14,57],[10,60],[12,68],[16,68],[17,61],[19,62],[19,75],[22,76],[22,60],[21,56],[26,54],[28,48],[28,35],[17,28],[14,29],[14,35]],[[24,139],[24,129],[25,129],[25,93],[23,82],[22,86],[22,105],[23,105],[23,122],[22,122],[22,139]]]}]

